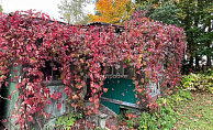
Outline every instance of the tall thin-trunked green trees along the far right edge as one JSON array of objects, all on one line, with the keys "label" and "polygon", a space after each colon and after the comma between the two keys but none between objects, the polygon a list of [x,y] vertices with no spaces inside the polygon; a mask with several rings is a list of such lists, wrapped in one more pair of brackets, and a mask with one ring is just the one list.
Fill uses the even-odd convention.
[{"label": "tall thin-trunked green trees along the far right edge", "polygon": [[[200,61],[206,56],[206,66],[211,68],[213,57],[212,48],[212,19],[213,2],[212,0],[188,0],[180,1],[178,4],[181,9],[180,18],[182,28],[187,33],[187,63],[189,67],[199,71]],[[193,67],[195,61],[195,68]],[[201,64],[202,65],[202,64]]]}]

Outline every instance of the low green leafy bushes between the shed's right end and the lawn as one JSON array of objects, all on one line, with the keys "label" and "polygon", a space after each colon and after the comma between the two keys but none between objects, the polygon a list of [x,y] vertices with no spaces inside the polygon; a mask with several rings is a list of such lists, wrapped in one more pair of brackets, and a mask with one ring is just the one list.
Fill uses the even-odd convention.
[{"label": "low green leafy bushes between the shed's right end and the lawn", "polygon": [[192,95],[189,90],[179,90],[167,98],[159,98],[157,100],[156,111],[153,113],[143,112],[139,118],[139,130],[170,130],[177,121],[178,112],[175,107],[180,101],[192,100]]}]

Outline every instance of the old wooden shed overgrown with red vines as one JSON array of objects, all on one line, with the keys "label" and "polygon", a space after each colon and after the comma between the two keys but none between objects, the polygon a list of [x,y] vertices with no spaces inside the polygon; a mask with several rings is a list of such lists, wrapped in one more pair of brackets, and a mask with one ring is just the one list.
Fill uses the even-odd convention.
[{"label": "old wooden shed overgrown with red vines", "polygon": [[[16,96],[11,116],[20,129],[41,127],[38,118],[52,116],[52,104],[85,115],[98,112],[101,99],[117,113],[122,106],[155,107],[152,97],[170,94],[181,79],[181,28],[136,14],[124,26],[74,26],[33,11],[0,19],[0,85],[15,82],[7,98]],[[54,93],[54,85],[64,88]],[[86,107],[85,100],[93,105]]]}]

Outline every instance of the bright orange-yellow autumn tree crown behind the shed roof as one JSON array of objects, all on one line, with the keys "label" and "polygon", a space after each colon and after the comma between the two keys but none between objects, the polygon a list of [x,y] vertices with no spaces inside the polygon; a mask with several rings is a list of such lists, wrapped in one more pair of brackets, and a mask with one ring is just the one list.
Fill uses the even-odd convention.
[{"label": "bright orange-yellow autumn tree crown behind the shed roof", "polygon": [[100,15],[89,14],[91,22],[121,23],[126,21],[136,10],[131,0],[99,0],[97,11]]}]

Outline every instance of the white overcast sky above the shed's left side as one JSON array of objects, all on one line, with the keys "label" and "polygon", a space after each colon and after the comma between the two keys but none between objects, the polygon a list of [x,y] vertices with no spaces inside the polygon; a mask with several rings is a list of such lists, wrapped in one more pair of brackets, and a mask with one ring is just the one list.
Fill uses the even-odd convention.
[{"label": "white overcast sky above the shed's left side", "polygon": [[[4,13],[14,12],[16,10],[26,11],[35,9],[36,11],[47,13],[51,18],[56,20],[60,20],[57,8],[57,4],[59,3],[60,0],[0,0]],[[86,10],[87,12],[92,13],[93,8],[93,6],[88,6]]]}]

